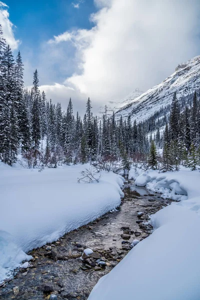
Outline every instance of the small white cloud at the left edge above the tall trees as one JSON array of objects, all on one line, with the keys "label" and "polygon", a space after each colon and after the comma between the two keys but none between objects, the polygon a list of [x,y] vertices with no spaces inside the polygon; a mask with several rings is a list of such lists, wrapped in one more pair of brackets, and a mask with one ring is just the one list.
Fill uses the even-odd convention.
[{"label": "small white cloud at the left edge above the tall trees", "polygon": [[3,30],[3,36],[6,40],[6,43],[10,45],[12,50],[17,49],[20,41],[15,39],[13,33],[14,25],[9,20],[9,12],[7,11],[8,6],[0,1],[0,24]]}]

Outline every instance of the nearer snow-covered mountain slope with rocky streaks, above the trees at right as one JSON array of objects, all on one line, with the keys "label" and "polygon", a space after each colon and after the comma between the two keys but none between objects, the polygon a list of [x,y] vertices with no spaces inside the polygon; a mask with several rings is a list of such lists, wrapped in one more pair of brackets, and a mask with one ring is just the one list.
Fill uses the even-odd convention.
[{"label": "nearer snow-covered mountain slope with rocky streaks, above the trees at right", "polygon": [[156,86],[142,93],[116,112],[116,119],[131,115],[131,120],[141,121],[161,106],[171,103],[173,93],[177,98],[192,93],[200,87],[200,55],[179,64],[175,72]]}]

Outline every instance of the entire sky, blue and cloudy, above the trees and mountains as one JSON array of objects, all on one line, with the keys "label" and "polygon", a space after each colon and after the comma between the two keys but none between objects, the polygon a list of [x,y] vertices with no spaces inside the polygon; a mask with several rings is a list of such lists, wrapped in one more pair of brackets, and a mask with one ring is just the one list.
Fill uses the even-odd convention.
[{"label": "entire sky, blue and cloudy, above the trees and mountains", "polygon": [[200,54],[199,12],[199,0],[7,0],[0,23],[26,86],[37,68],[53,102],[83,111],[90,96],[95,112]]}]

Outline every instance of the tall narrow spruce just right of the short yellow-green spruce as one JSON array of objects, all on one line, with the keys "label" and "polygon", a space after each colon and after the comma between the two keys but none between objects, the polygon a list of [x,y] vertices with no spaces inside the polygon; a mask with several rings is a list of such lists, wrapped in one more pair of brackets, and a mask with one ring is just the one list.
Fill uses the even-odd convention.
[{"label": "tall narrow spruce just right of the short yellow-green spruce", "polygon": [[160,170],[163,172],[173,170],[173,161],[170,152],[170,138],[169,138],[167,123],[164,130],[163,153],[162,153],[162,162],[161,162]]}]

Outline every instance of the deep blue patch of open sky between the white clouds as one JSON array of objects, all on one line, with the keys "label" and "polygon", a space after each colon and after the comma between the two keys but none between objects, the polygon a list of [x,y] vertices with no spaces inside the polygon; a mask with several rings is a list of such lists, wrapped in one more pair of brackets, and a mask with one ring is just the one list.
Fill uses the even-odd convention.
[{"label": "deep blue patch of open sky between the white clouds", "polygon": [[[72,28],[91,28],[89,15],[97,9],[93,0],[85,0],[74,8],[70,0],[6,0],[14,32],[22,41],[20,48],[36,48],[43,40]],[[73,3],[78,3],[74,0]]]}]

